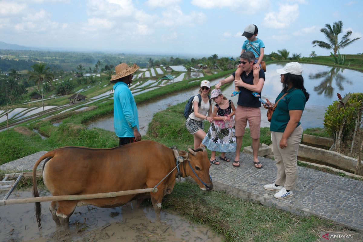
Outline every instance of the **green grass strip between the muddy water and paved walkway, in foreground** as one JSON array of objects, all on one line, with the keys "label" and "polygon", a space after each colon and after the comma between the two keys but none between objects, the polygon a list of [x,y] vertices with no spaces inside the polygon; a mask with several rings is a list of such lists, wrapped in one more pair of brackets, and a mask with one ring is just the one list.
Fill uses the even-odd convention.
[{"label": "green grass strip between the muddy water and paved walkway, in foreground", "polygon": [[346,230],[315,216],[298,216],[225,192],[205,192],[189,182],[177,183],[162,205],[194,222],[211,226],[230,242],[317,241],[320,231]]}]

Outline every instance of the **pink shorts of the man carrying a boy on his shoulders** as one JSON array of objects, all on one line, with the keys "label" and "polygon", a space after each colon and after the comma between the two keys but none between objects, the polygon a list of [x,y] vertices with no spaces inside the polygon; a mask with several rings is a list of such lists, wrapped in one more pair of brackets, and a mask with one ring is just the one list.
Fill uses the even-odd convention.
[{"label": "pink shorts of the man carrying a boy on his shoulders", "polygon": [[237,105],[236,112],[234,114],[234,122],[236,123],[236,136],[243,136],[245,129],[248,125],[251,132],[252,139],[260,138],[261,128],[261,108],[259,107],[245,107]]}]

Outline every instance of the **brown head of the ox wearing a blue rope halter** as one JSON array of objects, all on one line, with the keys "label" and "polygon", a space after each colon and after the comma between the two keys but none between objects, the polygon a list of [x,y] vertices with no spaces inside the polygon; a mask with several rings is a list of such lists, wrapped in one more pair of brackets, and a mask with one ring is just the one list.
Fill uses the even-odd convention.
[{"label": "brown head of the ox wearing a blue rope halter", "polygon": [[179,151],[179,156],[184,159],[185,176],[191,176],[197,182],[200,189],[209,191],[213,188],[212,179],[209,176],[209,167],[211,163],[208,159],[208,153],[204,147],[193,150],[188,149],[189,153],[183,150]]}]

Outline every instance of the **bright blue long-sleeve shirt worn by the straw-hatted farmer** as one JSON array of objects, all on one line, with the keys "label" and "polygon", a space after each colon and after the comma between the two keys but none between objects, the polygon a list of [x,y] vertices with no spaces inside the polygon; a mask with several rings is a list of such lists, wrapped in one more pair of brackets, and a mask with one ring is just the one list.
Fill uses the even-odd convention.
[{"label": "bright blue long-sleeve shirt worn by the straw-hatted farmer", "polygon": [[132,128],[139,130],[139,118],[134,96],[125,82],[114,86],[114,128],[118,137],[134,137]]}]

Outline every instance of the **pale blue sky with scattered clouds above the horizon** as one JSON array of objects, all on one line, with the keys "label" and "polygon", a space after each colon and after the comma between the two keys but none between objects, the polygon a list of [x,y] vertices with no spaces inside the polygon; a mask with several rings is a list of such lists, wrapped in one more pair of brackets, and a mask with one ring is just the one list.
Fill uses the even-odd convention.
[{"label": "pale blue sky with scattered clouds above the horizon", "polygon": [[[363,37],[363,1],[342,0],[0,0],[0,41],[38,48],[173,56],[236,57],[249,24],[265,53],[286,48],[329,55],[311,41],[342,20]],[[343,34],[340,35],[340,37]],[[363,39],[343,54],[363,53]]]}]

